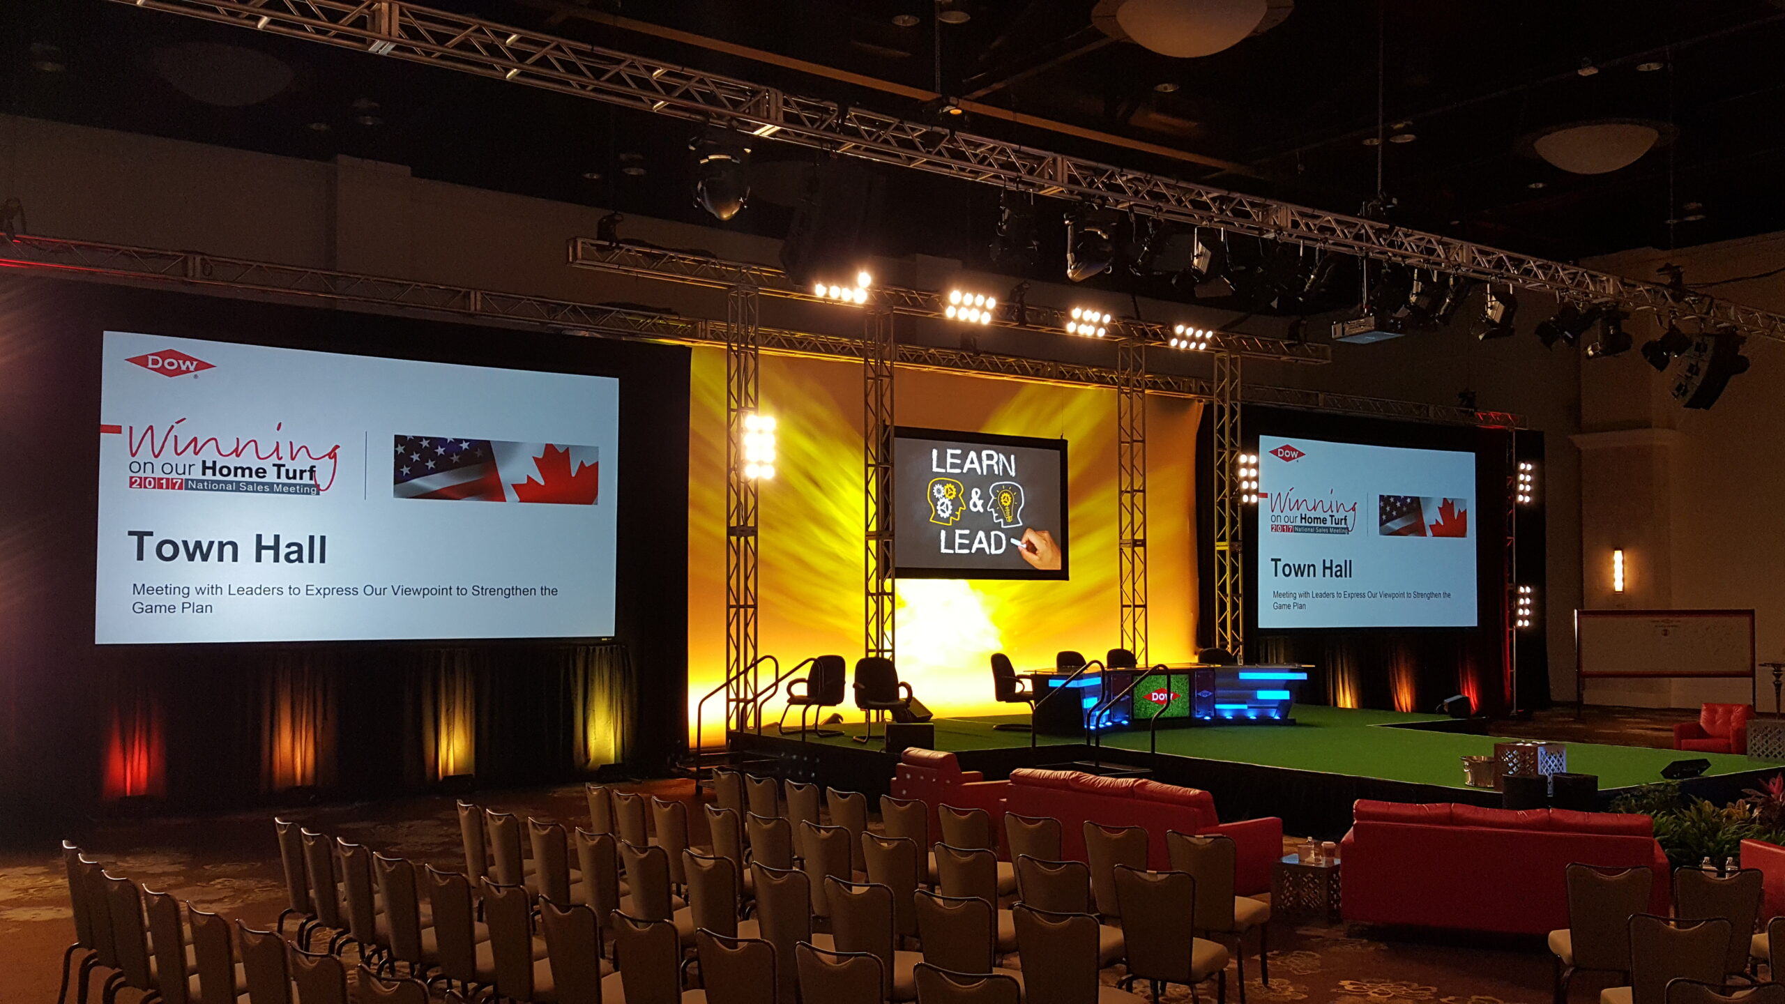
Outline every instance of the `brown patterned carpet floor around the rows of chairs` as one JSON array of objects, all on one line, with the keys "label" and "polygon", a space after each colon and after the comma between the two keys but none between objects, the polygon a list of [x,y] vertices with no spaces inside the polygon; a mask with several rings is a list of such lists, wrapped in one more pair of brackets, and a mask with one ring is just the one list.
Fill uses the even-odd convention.
[{"label": "brown patterned carpet floor around the rows of chairs", "polygon": [[[662,781],[637,786],[660,797],[689,797],[691,784]],[[471,797],[518,815],[585,822],[580,788],[502,791]],[[203,818],[112,822],[82,845],[114,874],[152,890],[171,891],[202,909],[221,911],[250,925],[270,927],[284,906],[278,847],[271,816],[362,841],[436,866],[461,868],[457,816],[450,797],[396,802],[293,807]],[[702,820],[696,813],[694,820]],[[700,825],[700,822],[696,822]],[[700,834],[696,834],[700,840]],[[50,1002],[57,965],[71,940],[68,890],[54,847],[0,856],[0,1002]],[[1317,1004],[1542,1004],[1549,999],[1549,954],[1539,941],[1483,941],[1476,936],[1435,936],[1364,927],[1274,922],[1271,984],[1258,983],[1258,945],[1246,941],[1248,1002]],[[1107,972],[1114,981],[1119,974]],[[1230,974],[1230,1000],[1237,986]],[[1576,981],[1578,1000],[1594,1000],[1598,983]],[[1169,988],[1167,1000],[1189,1000]],[[1214,1000],[1212,986],[1203,1000]],[[123,1004],[136,1004],[125,991]]]}]

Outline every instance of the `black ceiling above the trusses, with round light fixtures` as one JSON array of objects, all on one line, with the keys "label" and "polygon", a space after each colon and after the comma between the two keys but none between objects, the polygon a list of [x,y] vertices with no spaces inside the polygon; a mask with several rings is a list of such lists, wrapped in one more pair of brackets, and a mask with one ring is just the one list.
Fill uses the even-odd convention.
[{"label": "black ceiling above the trusses, with round light fixtures", "polygon": [[[923,102],[655,29],[934,88],[937,25],[923,0],[434,5],[896,114],[921,114]],[[1785,9],[1774,2],[1385,0],[1378,21],[1376,4],[1301,0],[1282,25],[1205,59],[1108,43],[1091,27],[1087,0],[959,0],[959,9],[971,20],[939,32],[950,95],[1235,166],[992,116],[953,120],[967,130],[1342,213],[1376,193],[1380,152],[1392,220],[1562,259],[1785,229]],[[917,23],[896,25],[900,14]],[[646,30],[616,27],[614,16]],[[0,18],[14,113],[311,159],[373,157],[421,177],[712,222],[689,198],[687,123],[105,0],[12,4]],[[1383,121],[1416,139],[1369,146],[1378,23]],[[191,41],[277,63],[200,66],[187,75],[196,80],[180,79],[170,63],[191,70],[216,55],[178,48]],[[1583,61],[1592,73],[1578,71]],[[241,107],[216,104],[275,86]],[[1669,121],[1678,138],[1606,175],[1569,175],[1519,148],[1544,125],[1606,116]],[[646,173],[619,172],[621,154],[641,154]],[[782,236],[810,163],[810,152],[759,143],[757,198],[728,227]],[[891,173],[873,250],[984,255],[996,191]],[[1044,236],[1057,247],[1053,227]]]}]

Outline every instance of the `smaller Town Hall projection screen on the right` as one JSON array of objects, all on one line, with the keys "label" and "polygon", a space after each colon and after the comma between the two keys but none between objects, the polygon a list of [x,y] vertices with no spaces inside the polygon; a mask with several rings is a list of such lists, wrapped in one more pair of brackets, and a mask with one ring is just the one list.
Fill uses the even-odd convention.
[{"label": "smaller Town Hall projection screen on the right", "polygon": [[1258,436],[1258,627],[1474,627],[1474,454]]}]

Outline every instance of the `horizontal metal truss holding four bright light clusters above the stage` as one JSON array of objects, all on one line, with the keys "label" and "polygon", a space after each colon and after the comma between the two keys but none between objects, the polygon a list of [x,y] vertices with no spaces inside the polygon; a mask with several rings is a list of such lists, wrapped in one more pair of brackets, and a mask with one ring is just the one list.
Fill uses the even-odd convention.
[{"label": "horizontal metal truss holding four bright light clusters above the stage", "polygon": [[[589,268],[612,275],[660,279],[664,282],[682,282],[709,289],[728,289],[737,282],[753,282],[759,289],[762,289],[764,297],[803,300],[807,304],[834,304],[837,309],[844,311],[860,309],[853,304],[841,304],[837,300],[819,297],[814,289],[796,286],[785,272],[768,264],[725,261],[694,252],[602,241],[594,238],[571,238],[568,254],[569,264],[577,268]],[[926,289],[905,289],[901,286],[875,284],[868,291],[868,304],[892,311],[894,314],[941,322],[950,320],[946,314],[948,300],[942,293],[932,293]],[[994,316],[991,323],[996,327],[1021,330],[1067,334],[1066,323],[1071,318],[1066,311],[1007,302],[1000,305],[998,316]],[[1110,323],[1108,327],[1110,338],[1116,341],[1135,339],[1166,345],[1171,339],[1171,329],[1162,323],[1125,318]],[[1257,334],[1216,332],[1210,341],[1210,350],[1257,356],[1258,359],[1273,359],[1276,363],[1332,363],[1330,345],[1283,341],[1280,338],[1262,338]]]}]

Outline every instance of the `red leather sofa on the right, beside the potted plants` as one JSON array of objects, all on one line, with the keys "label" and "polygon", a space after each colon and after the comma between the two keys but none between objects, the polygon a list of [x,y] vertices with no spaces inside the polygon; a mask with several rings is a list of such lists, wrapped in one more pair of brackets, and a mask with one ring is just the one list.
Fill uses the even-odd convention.
[{"label": "red leather sofa on the right, beside the potted plants", "polygon": [[1667,856],[1649,816],[1358,800],[1341,843],[1344,918],[1546,934],[1567,927],[1571,863],[1655,872],[1665,915]]}]

